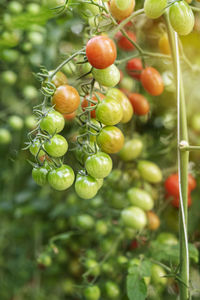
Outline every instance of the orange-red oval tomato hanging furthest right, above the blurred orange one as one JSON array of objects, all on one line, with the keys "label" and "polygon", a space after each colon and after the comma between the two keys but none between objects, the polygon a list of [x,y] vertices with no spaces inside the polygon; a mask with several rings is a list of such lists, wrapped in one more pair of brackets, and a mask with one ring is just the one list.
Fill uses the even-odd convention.
[{"label": "orange-red oval tomato hanging furthest right, above the blurred orange one", "polygon": [[152,67],[147,67],[142,71],[141,83],[144,89],[152,96],[159,96],[164,90],[160,73]]}]

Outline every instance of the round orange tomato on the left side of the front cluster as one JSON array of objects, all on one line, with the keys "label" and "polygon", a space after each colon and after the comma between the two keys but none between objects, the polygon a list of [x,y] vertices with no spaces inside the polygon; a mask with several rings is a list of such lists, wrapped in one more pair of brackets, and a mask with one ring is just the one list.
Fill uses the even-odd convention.
[{"label": "round orange tomato on the left side of the front cluster", "polygon": [[70,85],[59,86],[52,98],[55,110],[62,114],[70,114],[77,110],[80,104],[80,96],[77,90]]}]

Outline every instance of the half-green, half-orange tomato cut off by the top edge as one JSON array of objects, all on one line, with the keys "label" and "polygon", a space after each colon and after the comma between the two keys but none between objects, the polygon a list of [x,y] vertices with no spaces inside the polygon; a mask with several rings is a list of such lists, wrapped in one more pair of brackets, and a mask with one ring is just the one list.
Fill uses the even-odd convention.
[{"label": "half-green, half-orange tomato cut off by the top edge", "polygon": [[135,0],[111,0],[110,12],[117,21],[130,16],[135,7]]}]

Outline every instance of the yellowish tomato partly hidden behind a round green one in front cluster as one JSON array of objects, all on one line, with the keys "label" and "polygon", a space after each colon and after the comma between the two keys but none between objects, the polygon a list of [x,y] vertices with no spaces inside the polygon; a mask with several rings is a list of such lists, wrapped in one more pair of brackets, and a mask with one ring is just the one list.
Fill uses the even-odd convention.
[{"label": "yellowish tomato partly hidden behind a round green one in front cluster", "polygon": [[123,111],[123,116],[120,123],[123,124],[128,123],[133,116],[133,108],[126,95],[122,91],[116,88],[110,89],[106,95],[115,99],[118,103],[120,103]]}]

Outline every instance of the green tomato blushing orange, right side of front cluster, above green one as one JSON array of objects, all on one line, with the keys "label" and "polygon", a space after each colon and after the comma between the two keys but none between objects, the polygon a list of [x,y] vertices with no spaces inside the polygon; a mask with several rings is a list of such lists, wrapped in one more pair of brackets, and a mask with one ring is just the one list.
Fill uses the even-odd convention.
[{"label": "green tomato blushing orange, right side of front cluster, above green one", "polygon": [[124,135],[115,126],[106,126],[97,136],[97,144],[103,152],[117,153],[124,145]]}]

